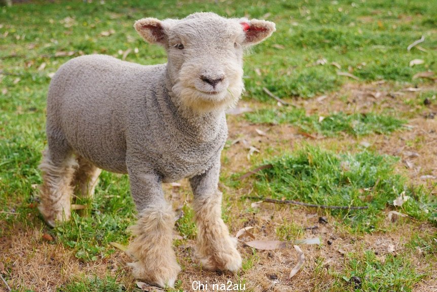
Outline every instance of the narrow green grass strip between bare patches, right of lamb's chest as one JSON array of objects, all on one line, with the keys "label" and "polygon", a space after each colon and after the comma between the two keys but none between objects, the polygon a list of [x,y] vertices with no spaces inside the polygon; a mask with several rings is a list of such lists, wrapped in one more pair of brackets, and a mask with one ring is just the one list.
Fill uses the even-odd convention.
[{"label": "narrow green grass strip between bare patches, right of lamb's chest", "polygon": [[405,120],[378,113],[340,112],[320,120],[318,115],[307,116],[304,109],[297,108],[264,109],[246,113],[245,117],[253,123],[289,123],[300,127],[304,132],[316,132],[331,137],[337,136],[340,132],[352,136],[390,134],[406,123]]}]

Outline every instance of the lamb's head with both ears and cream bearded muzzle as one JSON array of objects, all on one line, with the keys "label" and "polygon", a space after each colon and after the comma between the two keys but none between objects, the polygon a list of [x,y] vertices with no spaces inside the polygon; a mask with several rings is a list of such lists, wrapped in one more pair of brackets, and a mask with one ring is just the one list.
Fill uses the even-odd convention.
[{"label": "lamb's head with both ears and cream bearded muzzle", "polygon": [[194,13],[184,19],[143,18],[135,29],[149,43],[162,45],[177,102],[205,113],[234,106],[244,89],[243,50],[275,31],[257,19]]}]

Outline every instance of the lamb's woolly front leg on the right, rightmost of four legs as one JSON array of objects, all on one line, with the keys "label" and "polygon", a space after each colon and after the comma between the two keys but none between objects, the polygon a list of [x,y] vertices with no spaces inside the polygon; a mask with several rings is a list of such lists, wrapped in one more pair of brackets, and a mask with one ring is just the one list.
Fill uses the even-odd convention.
[{"label": "lamb's woolly front leg on the right, rightmost of four legs", "polygon": [[197,224],[195,255],[208,270],[236,272],[241,268],[237,240],[229,236],[222,219],[222,192],[218,190],[220,163],[190,180],[194,192],[193,208]]}]

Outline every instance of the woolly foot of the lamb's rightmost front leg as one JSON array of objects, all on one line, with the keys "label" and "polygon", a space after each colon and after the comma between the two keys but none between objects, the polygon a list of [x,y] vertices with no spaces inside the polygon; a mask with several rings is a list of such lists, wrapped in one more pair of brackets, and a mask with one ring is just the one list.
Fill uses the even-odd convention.
[{"label": "woolly foot of the lamb's rightmost front leg", "polygon": [[[233,238],[229,238],[229,241],[232,242]],[[207,250],[211,250],[211,248],[204,249],[204,251]],[[229,245],[227,248],[209,254],[196,252],[196,256],[199,258],[202,268],[206,270],[227,270],[235,273],[241,268],[241,255],[234,245]]]}]

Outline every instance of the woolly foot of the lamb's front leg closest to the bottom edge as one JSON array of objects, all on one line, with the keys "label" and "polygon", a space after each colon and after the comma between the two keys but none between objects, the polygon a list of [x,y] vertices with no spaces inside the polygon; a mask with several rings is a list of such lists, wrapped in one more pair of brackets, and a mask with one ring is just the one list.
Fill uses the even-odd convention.
[{"label": "woolly foot of the lamb's front leg closest to the bottom edge", "polygon": [[141,262],[129,263],[128,265],[132,267],[132,275],[135,279],[161,288],[174,288],[177,274],[181,270],[176,261],[159,267],[146,267]]}]

